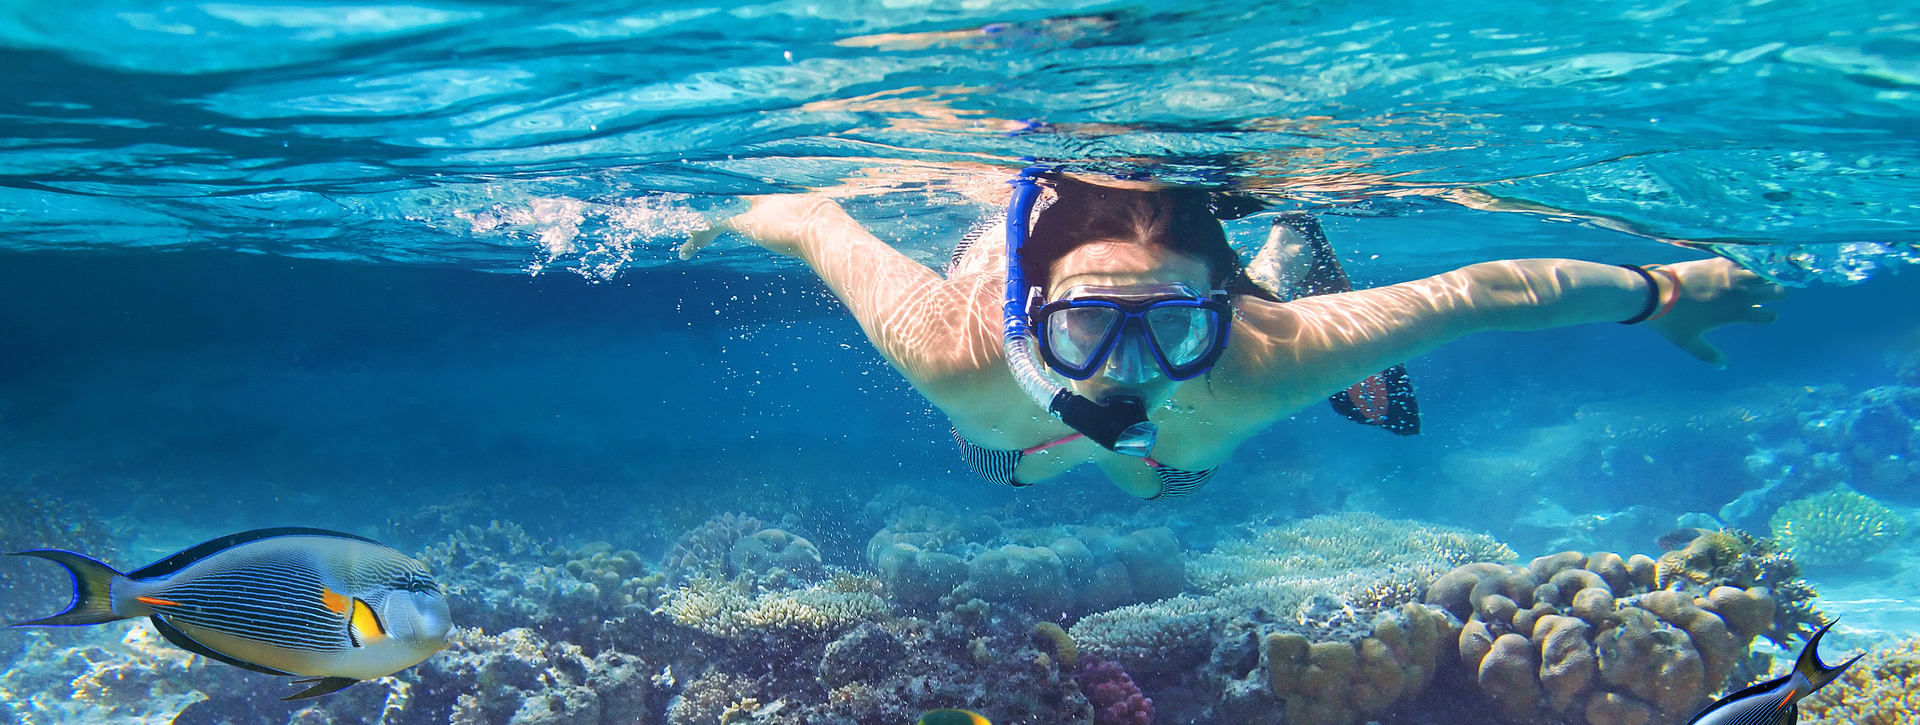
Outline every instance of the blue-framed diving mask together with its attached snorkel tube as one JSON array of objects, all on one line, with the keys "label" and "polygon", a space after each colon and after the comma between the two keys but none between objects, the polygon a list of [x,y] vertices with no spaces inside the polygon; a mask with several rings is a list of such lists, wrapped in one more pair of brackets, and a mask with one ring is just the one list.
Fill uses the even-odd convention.
[{"label": "blue-framed diving mask together with its attached snorkel tube", "polygon": [[[1123,359],[1139,362],[1139,345],[1144,345],[1144,353],[1169,380],[1187,380],[1206,372],[1227,347],[1231,309],[1223,293],[1202,299],[1187,286],[1071,288],[1035,313],[1043,324],[1037,345],[1027,313],[1029,299],[1039,297],[1039,290],[1027,290],[1020,247],[1027,242],[1043,171],[1046,169],[1027,167],[1008,182],[1014,186],[1014,199],[1006,207],[1006,305],[1000,338],[1006,364],[1027,397],[1060,422],[1108,451],[1144,458],[1160,435],[1160,426],[1146,420],[1146,401],[1110,395],[1094,403],[1048,380],[1041,370],[1041,357],[1062,376],[1087,380],[1110,362],[1116,349]],[[1144,378],[1148,376],[1142,374]]]}]

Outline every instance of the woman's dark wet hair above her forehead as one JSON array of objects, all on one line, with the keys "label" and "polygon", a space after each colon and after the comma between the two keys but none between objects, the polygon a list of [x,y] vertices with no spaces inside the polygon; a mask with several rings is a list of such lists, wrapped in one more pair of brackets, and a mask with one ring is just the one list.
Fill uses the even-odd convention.
[{"label": "woman's dark wet hair above her forehead", "polygon": [[1091,242],[1162,246],[1200,259],[1208,282],[1233,293],[1263,293],[1240,269],[1227,230],[1213,217],[1213,194],[1198,188],[1131,190],[1048,175],[1054,203],[1039,213],[1020,269],[1029,286],[1052,290],[1052,269],[1066,253]]}]

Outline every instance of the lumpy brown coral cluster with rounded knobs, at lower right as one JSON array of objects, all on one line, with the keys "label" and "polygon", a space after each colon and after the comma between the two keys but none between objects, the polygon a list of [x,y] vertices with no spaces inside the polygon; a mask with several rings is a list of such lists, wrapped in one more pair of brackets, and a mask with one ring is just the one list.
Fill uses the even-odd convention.
[{"label": "lumpy brown coral cluster with rounded knobs, at lower right", "polygon": [[1665,566],[1611,552],[1467,564],[1436,579],[1427,602],[1465,621],[1459,666],[1507,721],[1678,721],[1755,675],[1755,637],[1805,623],[1763,585],[1782,562],[1768,570],[1757,549],[1709,531]]}]

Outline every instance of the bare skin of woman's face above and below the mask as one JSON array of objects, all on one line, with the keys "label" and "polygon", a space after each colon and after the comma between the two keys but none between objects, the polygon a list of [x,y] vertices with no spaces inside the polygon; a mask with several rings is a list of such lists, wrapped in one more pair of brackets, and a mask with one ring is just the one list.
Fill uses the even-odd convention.
[{"label": "bare skin of woman's face above and below the mask", "polygon": [[[1202,293],[1212,288],[1204,261],[1162,246],[1125,242],[1092,242],[1062,255],[1054,263],[1052,288],[1046,292],[1046,301],[1054,301],[1068,290],[1083,284],[1106,288],[1187,284],[1202,290]],[[1140,343],[1140,339],[1121,339],[1121,345],[1135,343]],[[1114,353],[1116,361],[1121,357],[1121,351]],[[1160,366],[1150,359],[1146,361],[1146,370],[1152,374],[1144,382],[1121,382],[1116,380],[1116,374],[1135,380],[1140,376],[1106,366],[1092,378],[1073,380],[1071,386],[1075,393],[1092,401],[1102,401],[1106,395],[1137,395],[1146,401],[1148,409],[1154,409],[1165,403],[1167,397],[1173,397],[1179,382],[1160,374]]]}]

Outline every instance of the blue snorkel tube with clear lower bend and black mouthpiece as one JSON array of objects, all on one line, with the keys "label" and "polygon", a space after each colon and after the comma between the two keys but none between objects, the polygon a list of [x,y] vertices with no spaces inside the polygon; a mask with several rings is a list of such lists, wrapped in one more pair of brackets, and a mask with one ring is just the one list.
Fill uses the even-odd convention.
[{"label": "blue snorkel tube with clear lower bend and black mouthpiece", "polygon": [[1108,451],[1144,458],[1160,435],[1160,426],[1146,420],[1144,401],[1131,395],[1114,395],[1106,403],[1089,401],[1071,387],[1048,380],[1033,351],[1039,341],[1027,322],[1029,293],[1027,276],[1020,270],[1020,247],[1027,244],[1027,222],[1033,219],[1033,203],[1041,198],[1041,184],[1035,178],[1043,171],[1046,169],[1027,167],[1008,182],[1014,186],[1014,199],[1006,205],[1006,307],[1000,338],[1006,347],[1006,366],[1014,370],[1020,389],[1054,418]]}]

